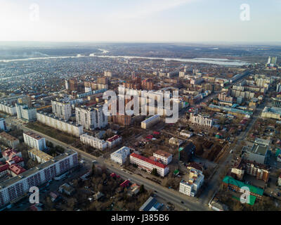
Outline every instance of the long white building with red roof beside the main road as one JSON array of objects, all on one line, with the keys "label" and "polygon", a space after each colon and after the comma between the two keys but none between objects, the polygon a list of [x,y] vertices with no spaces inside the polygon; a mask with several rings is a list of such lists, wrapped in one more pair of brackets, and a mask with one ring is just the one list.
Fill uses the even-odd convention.
[{"label": "long white building with red roof beside the main road", "polygon": [[136,164],[138,169],[144,169],[146,172],[151,173],[152,169],[157,169],[157,174],[160,176],[166,176],[169,172],[169,167],[160,163],[155,162],[149,158],[145,158],[142,155],[138,155],[136,153],[132,153],[130,155],[130,163]]}]

